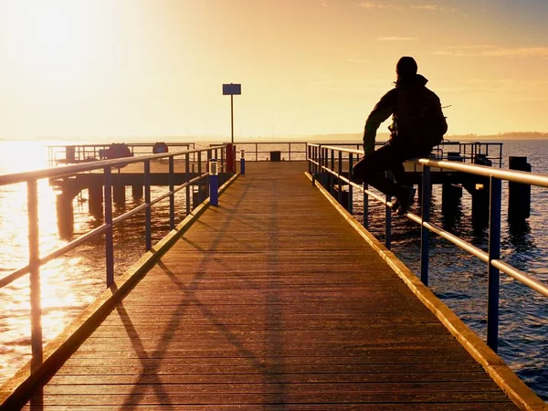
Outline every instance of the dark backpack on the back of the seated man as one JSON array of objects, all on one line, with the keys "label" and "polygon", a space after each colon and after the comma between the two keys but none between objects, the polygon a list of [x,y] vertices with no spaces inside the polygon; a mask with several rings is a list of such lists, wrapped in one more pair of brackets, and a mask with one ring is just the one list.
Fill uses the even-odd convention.
[{"label": "dark backpack on the back of the seated man", "polygon": [[442,142],[448,132],[441,102],[436,93],[426,87],[399,90],[394,117],[398,136],[410,139],[417,146],[432,148]]}]

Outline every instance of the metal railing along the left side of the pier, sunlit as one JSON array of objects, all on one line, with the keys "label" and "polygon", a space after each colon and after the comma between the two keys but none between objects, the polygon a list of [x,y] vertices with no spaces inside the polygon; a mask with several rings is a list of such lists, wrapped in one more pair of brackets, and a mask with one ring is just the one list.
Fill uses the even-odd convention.
[{"label": "metal railing along the left side of the pier, sunlit", "polygon": [[[197,175],[194,178],[190,178],[190,159],[191,156],[197,158]],[[184,161],[184,184],[174,186],[174,159],[179,157]],[[202,157],[207,159],[204,162]],[[38,365],[42,363],[43,351],[42,351],[42,331],[41,331],[41,302],[40,302],[40,268],[47,264],[47,262],[61,257],[68,253],[68,251],[79,247],[80,245],[90,241],[91,238],[98,237],[100,235],[105,236],[105,261],[106,261],[106,285],[111,286],[114,281],[114,243],[112,228],[121,222],[127,220],[129,217],[138,213],[144,212],[145,214],[145,248],[150,250],[152,245],[152,206],[169,198],[169,218],[170,229],[175,227],[175,197],[174,195],[181,190],[185,190],[186,201],[185,210],[186,215],[191,212],[190,189],[192,184],[199,184],[205,182],[208,184],[207,176],[209,175],[209,160],[215,158],[218,160],[218,169],[226,170],[226,146],[216,146],[203,150],[188,150],[177,153],[163,153],[153,154],[139,157],[127,157],[117,160],[105,160],[92,163],[82,163],[78,165],[59,166],[56,168],[49,168],[45,170],[37,170],[26,173],[18,174],[5,174],[0,175],[0,186],[9,184],[21,184],[26,183],[26,195],[27,195],[27,220],[28,220],[28,264],[25,267],[16,269],[10,272],[4,278],[0,279],[0,288],[5,287],[11,282],[19,279],[26,274],[30,276],[30,312],[31,312],[31,370],[34,370]],[[163,195],[159,195],[155,198],[151,198],[151,162],[167,159],[169,162],[168,172],[168,185],[169,191]],[[144,185],[144,204],[138,205],[132,208],[130,211],[113,218],[112,216],[112,168],[120,168],[130,163],[143,163],[143,185]],[[57,177],[72,176],[75,174],[86,173],[96,170],[102,170],[103,173],[103,185],[104,185],[104,222],[100,227],[96,227],[86,234],[77,237],[76,239],[68,242],[68,244],[60,247],[45,257],[41,257],[39,248],[39,230],[38,230],[38,191],[37,181],[41,179],[51,179]],[[219,173],[222,184],[227,179],[227,173]],[[194,175],[194,174],[193,174]],[[202,199],[202,201],[205,200]]]}]

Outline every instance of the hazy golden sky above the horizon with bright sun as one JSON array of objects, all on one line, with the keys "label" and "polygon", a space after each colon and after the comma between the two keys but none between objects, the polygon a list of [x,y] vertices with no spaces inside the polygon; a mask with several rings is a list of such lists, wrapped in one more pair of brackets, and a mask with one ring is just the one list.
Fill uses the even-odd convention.
[{"label": "hazy golden sky above the horizon with bright sun", "polygon": [[[546,0],[0,0],[0,139],[361,133],[413,56],[448,134],[548,132]],[[379,132],[386,132],[388,121]]]}]

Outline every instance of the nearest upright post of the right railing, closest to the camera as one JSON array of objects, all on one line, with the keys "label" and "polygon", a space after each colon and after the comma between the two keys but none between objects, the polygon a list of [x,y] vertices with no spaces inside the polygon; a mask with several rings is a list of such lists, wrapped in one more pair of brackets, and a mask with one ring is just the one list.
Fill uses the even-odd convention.
[{"label": "nearest upright post of the right railing, closest to the camera", "polygon": [[499,348],[499,283],[500,272],[491,265],[493,259],[501,258],[501,191],[499,178],[490,177],[490,224],[489,266],[487,301],[487,345],[497,353]]}]

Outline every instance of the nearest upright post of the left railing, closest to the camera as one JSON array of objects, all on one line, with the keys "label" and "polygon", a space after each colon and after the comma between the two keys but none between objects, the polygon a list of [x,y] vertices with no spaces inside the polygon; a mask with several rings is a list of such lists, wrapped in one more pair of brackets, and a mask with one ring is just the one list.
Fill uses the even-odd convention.
[{"label": "nearest upright post of the left railing, closest to the camera", "polygon": [[40,241],[38,231],[38,187],[37,180],[26,183],[28,216],[28,267],[30,268],[30,341],[31,371],[42,364],[42,301],[40,291]]}]

